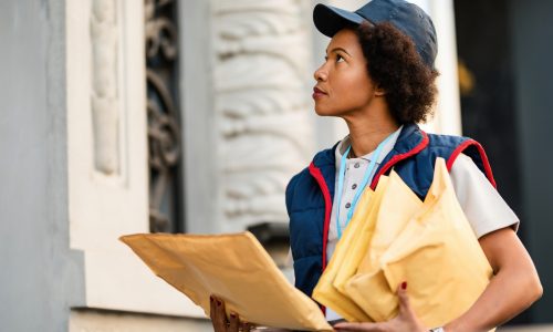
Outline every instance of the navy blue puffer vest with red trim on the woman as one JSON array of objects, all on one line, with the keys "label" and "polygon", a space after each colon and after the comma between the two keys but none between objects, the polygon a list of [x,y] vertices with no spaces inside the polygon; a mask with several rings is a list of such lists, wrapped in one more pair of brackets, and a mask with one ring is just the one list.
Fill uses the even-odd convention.
[{"label": "navy blue puffer vest with red trim on the woman", "polygon": [[[295,287],[309,297],[326,267],[336,146],[316,154],[311,165],[295,175],[286,188]],[[376,170],[371,187],[376,188],[379,177],[389,174],[394,167],[411,190],[424,199],[432,183],[436,158],[446,159],[448,169],[451,169],[461,153],[471,157],[495,186],[488,158],[478,142],[467,137],[427,134],[411,124],[404,125],[394,149]]]}]

